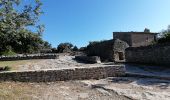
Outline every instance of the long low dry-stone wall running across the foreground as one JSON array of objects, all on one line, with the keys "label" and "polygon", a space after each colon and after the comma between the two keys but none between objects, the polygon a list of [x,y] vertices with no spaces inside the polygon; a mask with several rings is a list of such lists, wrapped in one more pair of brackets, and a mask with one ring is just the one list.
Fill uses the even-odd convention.
[{"label": "long low dry-stone wall running across the foreground", "polygon": [[101,79],[122,75],[125,75],[124,66],[107,66],[46,71],[1,72],[0,81],[52,82],[67,80]]}]

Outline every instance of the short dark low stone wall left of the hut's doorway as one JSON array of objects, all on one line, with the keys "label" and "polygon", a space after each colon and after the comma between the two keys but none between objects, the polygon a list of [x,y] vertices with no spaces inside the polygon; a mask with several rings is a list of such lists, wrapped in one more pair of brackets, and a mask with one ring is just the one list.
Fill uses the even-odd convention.
[{"label": "short dark low stone wall left of the hut's doorway", "polygon": [[98,56],[75,56],[75,59],[86,63],[101,63]]}]

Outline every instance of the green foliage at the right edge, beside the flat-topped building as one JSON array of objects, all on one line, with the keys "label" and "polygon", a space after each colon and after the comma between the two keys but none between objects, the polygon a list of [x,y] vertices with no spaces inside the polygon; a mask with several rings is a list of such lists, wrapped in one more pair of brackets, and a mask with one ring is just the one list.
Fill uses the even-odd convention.
[{"label": "green foliage at the right edge, beside the flat-topped building", "polygon": [[166,30],[163,30],[160,33],[160,38],[158,40],[158,43],[167,43],[170,42],[170,25]]}]

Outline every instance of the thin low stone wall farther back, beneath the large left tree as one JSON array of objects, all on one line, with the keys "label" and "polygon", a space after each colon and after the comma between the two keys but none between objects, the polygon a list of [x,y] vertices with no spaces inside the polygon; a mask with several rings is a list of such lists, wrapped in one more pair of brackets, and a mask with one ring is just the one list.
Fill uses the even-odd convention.
[{"label": "thin low stone wall farther back, beneath the large left tree", "polygon": [[17,56],[1,56],[0,61],[14,61],[14,60],[29,60],[29,59],[57,59],[56,54],[32,54],[32,55],[17,55]]}]

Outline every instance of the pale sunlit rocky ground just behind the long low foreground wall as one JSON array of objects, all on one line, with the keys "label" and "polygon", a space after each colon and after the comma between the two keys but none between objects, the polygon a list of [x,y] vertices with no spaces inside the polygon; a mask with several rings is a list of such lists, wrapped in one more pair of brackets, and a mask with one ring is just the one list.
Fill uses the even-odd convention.
[{"label": "pale sunlit rocky ground just behind the long low foreground wall", "polygon": [[99,67],[104,64],[85,64],[74,60],[74,56],[60,56],[59,59],[45,59],[36,63],[27,63],[19,65],[17,70],[47,70],[47,69],[70,69],[79,67]]}]

